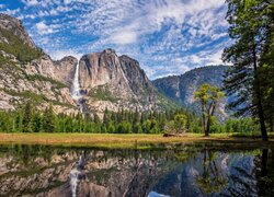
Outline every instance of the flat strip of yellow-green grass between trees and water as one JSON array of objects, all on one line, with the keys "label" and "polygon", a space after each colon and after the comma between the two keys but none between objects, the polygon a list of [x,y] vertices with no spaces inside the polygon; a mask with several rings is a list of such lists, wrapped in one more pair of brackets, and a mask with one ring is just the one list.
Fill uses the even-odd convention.
[{"label": "flat strip of yellow-green grass between trees and water", "polygon": [[110,135],[110,134],[0,134],[0,143],[84,146],[98,148],[169,148],[185,143],[214,143],[219,146],[274,146],[273,136],[269,142],[255,137],[233,137],[236,135],[213,134],[203,137],[202,134],[186,134],[183,137],[164,138],[162,135]]}]

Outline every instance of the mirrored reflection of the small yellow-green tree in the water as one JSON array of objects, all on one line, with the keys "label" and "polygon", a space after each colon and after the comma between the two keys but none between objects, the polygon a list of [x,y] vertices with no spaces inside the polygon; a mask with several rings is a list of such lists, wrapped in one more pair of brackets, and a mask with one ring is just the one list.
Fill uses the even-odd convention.
[{"label": "mirrored reflection of the small yellow-green tree in the water", "polygon": [[228,181],[222,177],[216,166],[216,153],[204,150],[203,155],[203,173],[196,177],[196,184],[205,194],[218,193],[226,187]]}]

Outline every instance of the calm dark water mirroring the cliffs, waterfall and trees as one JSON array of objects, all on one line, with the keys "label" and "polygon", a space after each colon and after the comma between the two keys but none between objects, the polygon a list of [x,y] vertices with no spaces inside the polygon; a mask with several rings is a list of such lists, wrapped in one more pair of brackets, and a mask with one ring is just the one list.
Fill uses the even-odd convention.
[{"label": "calm dark water mirroring the cliffs, waterfall and trees", "polygon": [[273,152],[0,146],[0,196],[273,196]]}]

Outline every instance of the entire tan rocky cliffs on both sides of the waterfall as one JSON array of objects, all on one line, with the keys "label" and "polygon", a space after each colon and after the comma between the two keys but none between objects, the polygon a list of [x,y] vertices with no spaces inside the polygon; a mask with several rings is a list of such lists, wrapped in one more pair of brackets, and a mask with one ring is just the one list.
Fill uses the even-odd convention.
[{"label": "entire tan rocky cliffs on both sides of the waterfall", "polygon": [[85,109],[149,111],[173,106],[147,78],[137,60],[113,49],[78,60],[54,61],[38,48],[18,19],[0,13],[0,109],[13,111],[32,101],[38,108],[50,103],[56,113],[78,113],[71,96],[76,70]]}]

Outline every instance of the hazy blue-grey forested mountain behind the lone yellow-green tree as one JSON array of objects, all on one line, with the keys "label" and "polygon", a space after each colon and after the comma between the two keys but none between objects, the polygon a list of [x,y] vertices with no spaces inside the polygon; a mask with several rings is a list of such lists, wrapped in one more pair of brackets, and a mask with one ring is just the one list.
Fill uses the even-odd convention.
[{"label": "hazy blue-grey forested mountain behind the lone yellow-green tree", "polygon": [[[190,70],[181,76],[170,76],[152,81],[155,86],[170,100],[182,106],[193,106],[194,92],[203,83],[220,88],[228,66],[207,66]],[[220,111],[225,113],[224,101]]]}]

